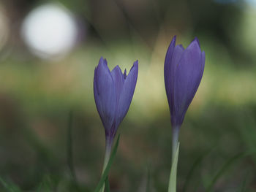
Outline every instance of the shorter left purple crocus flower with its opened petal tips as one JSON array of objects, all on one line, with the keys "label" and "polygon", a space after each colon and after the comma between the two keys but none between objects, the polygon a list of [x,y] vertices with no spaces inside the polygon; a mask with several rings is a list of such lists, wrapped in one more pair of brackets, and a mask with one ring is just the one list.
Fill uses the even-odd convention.
[{"label": "shorter left purple crocus flower with its opened petal tips", "polygon": [[110,150],[117,128],[129,110],[138,77],[138,61],[127,75],[116,66],[111,72],[106,59],[100,58],[94,71],[94,99],[105,128],[106,147]]}]

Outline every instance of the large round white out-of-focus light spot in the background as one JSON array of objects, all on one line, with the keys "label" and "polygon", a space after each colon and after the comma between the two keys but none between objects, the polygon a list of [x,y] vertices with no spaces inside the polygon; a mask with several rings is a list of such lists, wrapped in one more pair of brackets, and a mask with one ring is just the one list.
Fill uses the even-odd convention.
[{"label": "large round white out-of-focus light spot in the background", "polygon": [[21,33],[32,53],[58,58],[74,47],[78,28],[70,12],[60,4],[41,5],[23,21]]}]

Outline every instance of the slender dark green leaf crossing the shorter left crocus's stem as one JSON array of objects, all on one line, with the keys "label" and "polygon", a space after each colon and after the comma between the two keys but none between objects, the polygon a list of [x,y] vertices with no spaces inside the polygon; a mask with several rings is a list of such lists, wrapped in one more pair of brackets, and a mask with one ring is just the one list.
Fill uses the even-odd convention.
[{"label": "slender dark green leaf crossing the shorter left crocus's stem", "polygon": [[105,180],[108,177],[108,172],[110,171],[110,166],[112,165],[113,159],[116,156],[116,151],[117,151],[119,139],[120,139],[120,134],[118,135],[118,137],[116,139],[116,144],[113,147],[113,151],[112,151],[112,153],[110,155],[110,159],[108,161],[108,165],[106,166],[105,171],[103,172],[102,177],[100,178],[99,183],[98,183],[98,185],[97,185],[97,187],[96,187],[94,192],[99,192],[100,191],[100,189],[102,188],[103,184],[105,183]]}]

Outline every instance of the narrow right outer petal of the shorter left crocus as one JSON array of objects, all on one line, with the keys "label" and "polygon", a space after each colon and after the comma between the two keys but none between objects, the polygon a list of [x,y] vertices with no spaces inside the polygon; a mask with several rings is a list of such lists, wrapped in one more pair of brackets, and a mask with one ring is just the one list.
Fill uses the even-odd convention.
[{"label": "narrow right outer petal of the shorter left crocus", "polygon": [[138,78],[138,61],[135,61],[129,71],[127,78],[124,80],[124,86],[120,94],[120,98],[116,110],[116,125],[118,126],[124,119],[129,110],[129,105],[132,101],[132,96],[135,91],[135,86]]}]

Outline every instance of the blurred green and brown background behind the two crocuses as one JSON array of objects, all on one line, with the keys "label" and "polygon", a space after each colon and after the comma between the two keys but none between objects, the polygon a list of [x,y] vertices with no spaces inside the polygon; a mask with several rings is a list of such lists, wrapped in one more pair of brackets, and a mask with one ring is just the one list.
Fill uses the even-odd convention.
[{"label": "blurred green and brown background behind the two crocuses", "polygon": [[[27,22],[45,6],[54,9]],[[55,21],[54,12],[69,22]],[[94,190],[105,132],[93,77],[103,56],[110,69],[123,71],[139,61],[111,191],[144,192],[148,178],[150,191],[167,191],[171,127],[163,66],[177,35],[185,47],[197,37],[206,52],[203,80],[181,127],[178,191],[256,191],[255,20],[255,0],[1,1],[1,179],[23,191]]]}]

